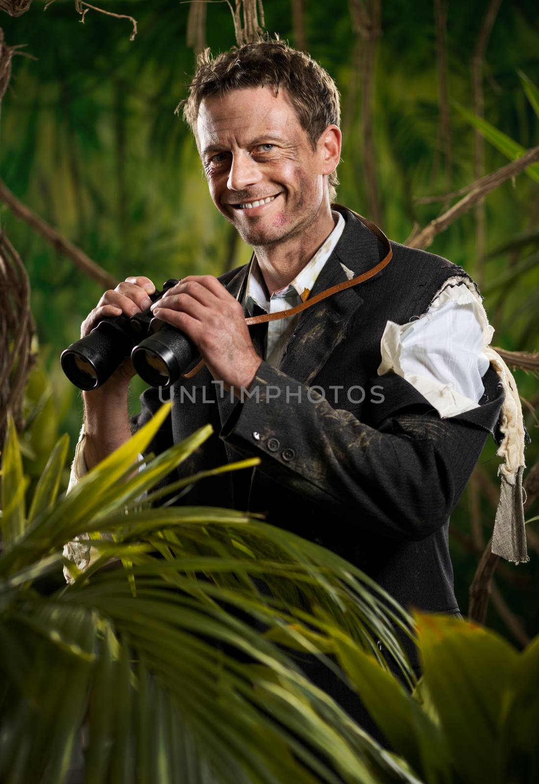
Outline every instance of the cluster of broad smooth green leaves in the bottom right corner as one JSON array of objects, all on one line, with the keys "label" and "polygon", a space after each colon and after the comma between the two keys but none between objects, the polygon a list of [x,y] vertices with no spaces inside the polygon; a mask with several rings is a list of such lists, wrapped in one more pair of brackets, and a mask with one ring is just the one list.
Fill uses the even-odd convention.
[{"label": "cluster of broad smooth green leaves in the bottom right corner", "polygon": [[335,640],[343,669],[395,752],[426,784],[537,781],[539,638],[519,654],[472,623],[415,619],[424,676],[413,695],[370,655]]}]

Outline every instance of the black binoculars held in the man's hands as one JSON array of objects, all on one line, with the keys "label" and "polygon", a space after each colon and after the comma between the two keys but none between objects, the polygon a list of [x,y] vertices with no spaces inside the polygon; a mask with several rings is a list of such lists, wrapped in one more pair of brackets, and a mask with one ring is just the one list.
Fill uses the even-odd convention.
[{"label": "black binoculars held in the man's hands", "polygon": [[[152,304],[179,281],[169,280],[150,295]],[[151,387],[167,389],[198,358],[195,344],[180,329],[154,318],[150,307],[131,318],[104,318],[86,337],[71,343],[60,362],[67,378],[82,390],[95,390],[131,356],[135,370]]]}]

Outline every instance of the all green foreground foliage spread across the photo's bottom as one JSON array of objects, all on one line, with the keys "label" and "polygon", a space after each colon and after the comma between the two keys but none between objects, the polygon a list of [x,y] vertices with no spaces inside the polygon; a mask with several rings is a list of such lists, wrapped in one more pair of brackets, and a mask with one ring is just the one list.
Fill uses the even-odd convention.
[{"label": "all green foreground foliage spread across the photo's bottom", "polygon": [[[539,638],[519,654],[497,633],[417,614],[424,677],[410,695],[376,641],[413,684],[394,626],[411,633],[411,619],[351,564],[235,510],[151,509],[151,492],[140,494],[210,434],[202,428],[133,474],[168,414],[165,405],[57,498],[62,437],[28,515],[9,419],[2,781],[61,784],[82,768],[89,784],[537,780]],[[79,572],[60,548],[86,532],[95,552]],[[64,563],[75,579],[51,589]],[[301,674],[293,651],[338,662],[393,753]]]}]

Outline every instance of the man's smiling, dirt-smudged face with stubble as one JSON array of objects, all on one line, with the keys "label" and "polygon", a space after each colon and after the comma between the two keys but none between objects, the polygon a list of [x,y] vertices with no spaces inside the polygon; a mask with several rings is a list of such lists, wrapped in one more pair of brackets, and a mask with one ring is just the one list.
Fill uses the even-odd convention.
[{"label": "man's smiling, dirt-smudged face with stubble", "polygon": [[249,245],[299,234],[326,205],[334,165],[322,141],[313,151],[285,89],[278,96],[253,87],[205,98],[197,141],[213,203]]}]

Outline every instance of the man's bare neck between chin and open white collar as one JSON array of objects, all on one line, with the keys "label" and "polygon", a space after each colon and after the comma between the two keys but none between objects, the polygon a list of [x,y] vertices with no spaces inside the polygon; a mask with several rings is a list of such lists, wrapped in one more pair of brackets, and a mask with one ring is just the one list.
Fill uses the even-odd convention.
[{"label": "man's bare neck between chin and open white collar", "polygon": [[308,229],[274,245],[253,247],[269,295],[284,289],[303,270],[335,228],[331,210]]}]

